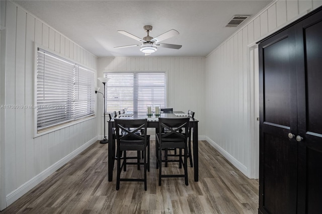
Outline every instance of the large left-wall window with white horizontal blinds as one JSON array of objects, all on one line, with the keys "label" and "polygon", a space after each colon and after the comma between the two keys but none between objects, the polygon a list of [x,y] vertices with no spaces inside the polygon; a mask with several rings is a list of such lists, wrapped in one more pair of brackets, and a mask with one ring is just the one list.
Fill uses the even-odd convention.
[{"label": "large left-wall window with white horizontal blinds", "polygon": [[37,131],[94,115],[95,73],[37,49]]}]

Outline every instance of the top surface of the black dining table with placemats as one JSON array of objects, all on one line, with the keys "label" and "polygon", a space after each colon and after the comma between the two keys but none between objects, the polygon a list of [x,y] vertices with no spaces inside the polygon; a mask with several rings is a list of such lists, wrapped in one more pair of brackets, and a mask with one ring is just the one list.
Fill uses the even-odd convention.
[{"label": "top surface of the black dining table with placemats", "polygon": [[[181,111],[175,111],[173,113],[160,113],[160,115],[147,115],[146,112],[126,112],[125,114],[121,114],[117,116],[117,119],[147,119],[149,122],[157,122],[158,118],[184,118],[183,116],[176,116],[175,114],[184,114]],[[108,122],[114,122],[112,118]],[[190,122],[199,122],[198,120],[190,117]]]}]

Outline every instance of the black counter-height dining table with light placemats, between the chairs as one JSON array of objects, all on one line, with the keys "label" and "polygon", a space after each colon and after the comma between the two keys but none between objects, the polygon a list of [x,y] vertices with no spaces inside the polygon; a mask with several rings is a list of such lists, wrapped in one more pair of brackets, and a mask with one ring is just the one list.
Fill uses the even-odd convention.
[{"label": "black counter-height dining table with light placemats, between the chairs", "polygon": [[[173,112],[173,113],[161,113],[159,116],[147,116],[146,112],[133,112],[126,113],[124,116],[117,116],[117,118],[122,119],[148,119],[148,128],[158,128],[157,118],[178,118],[181,116],[176,116],[175,114],[184,114],[184,112]],[[198,175],[198,120],[190,117],[189,127],[192,129],[192,143],[193,143],[193,169],[194,169],[194,179],[199,180]],[[108,121],[108,180],[113,180],[113,166],[115,157],[113,157],[113,128],[115,128],[114,119]],[[111,143],[112,142],[112,143]]]}]

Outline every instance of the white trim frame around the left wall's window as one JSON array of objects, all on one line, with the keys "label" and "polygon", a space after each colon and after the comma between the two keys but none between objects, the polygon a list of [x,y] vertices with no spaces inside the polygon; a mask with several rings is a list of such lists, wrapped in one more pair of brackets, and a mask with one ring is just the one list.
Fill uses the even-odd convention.
[{"label": "white trim frame around the left wall's window", "polygon": [[[36,137],[39,137],[39,136],[42,136],[42,135],[45,135],[45,134],[48,134],[48,133],[51,133],[51,132],[55,132],[57,130],[60,130],[60,129],[64,129],[66,127],[70,127],[70,126],[73,126],[75,124],[78,124],[78,123],[82,123],[82,122],[85,122],[85,121],[88,121],[88,120],[92,120],[92,119],[95,119],[96,118],[96,96],[95,96],[95,92],[94,92],[94,89],[93,89],[93,93],[94,93],[94,112],[93,114],[91,115],[87,115],[87,116],[84,116],[84,117],[80,117],[80,118],[73,118],[69,121],[65,121],[65,122],[61,122],[61,123],[57,123],[57,124],[54,124],[52,126],[49,126],[49,127],[46,127],[46,128],[43,128],[43,129],[40,129],[38,130],[38,124],[37,124],[37,120],[38,120],[38,115],[37,115],[37,57],[38,57],[38,49],[42,49],[52,55],[55,55],[57,56],[58,58],[62,58],[64,59],[65,61],[68,61],[68,62],[71,62],[73,64],[75,64],[75,66],[80,66],[81,68],[85,69],[85,70],[88,70],[89,72],[92,72],[94,74],[93,76],[93,86],[95,88],[96,86],[96,70],[93,69],[93,68],[89,68],[88,66],[84,65],[84,64],[81,64],[81,63],[78,63],[76,62],[75,60],[73,59],[70,59],[69,57],[66,57],[60,53],[57,53],[55,52],[54,50],[51,50],[47,47],[44,47],[42,45],[39,45],[39,44],[34,44],[34,103],[33,105],[26,105],[25,108],[32,108],[33,109],[33,114],[34,114],[34,120],[33,120],[33,123],[34,123],[34,138]],[[70,94],[72,96],[72,94]]]}]

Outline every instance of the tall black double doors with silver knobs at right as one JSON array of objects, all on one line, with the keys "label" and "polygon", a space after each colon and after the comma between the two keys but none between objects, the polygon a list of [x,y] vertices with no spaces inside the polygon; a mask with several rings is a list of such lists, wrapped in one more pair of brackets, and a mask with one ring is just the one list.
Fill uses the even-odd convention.
[{"label": "tall black double doors with silver knobs at right", "polygon": [[260,43],[259,212],[322,213],[322,7]]}]

